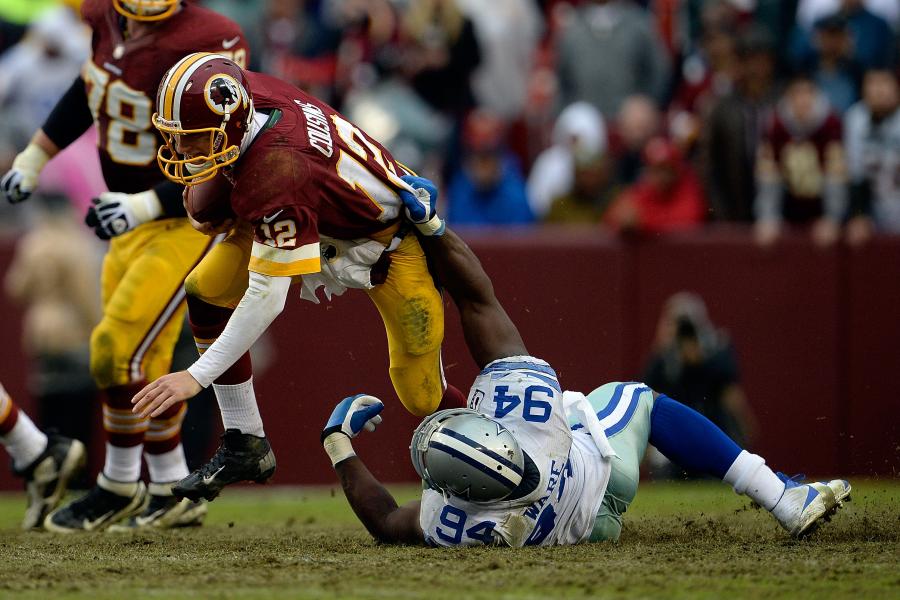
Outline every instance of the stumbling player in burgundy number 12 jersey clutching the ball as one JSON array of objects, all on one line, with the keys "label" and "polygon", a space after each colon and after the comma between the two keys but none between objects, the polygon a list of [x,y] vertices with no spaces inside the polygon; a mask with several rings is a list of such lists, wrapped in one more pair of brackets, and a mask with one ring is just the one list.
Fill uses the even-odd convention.
[{"label": "stumbling player in burgundy number 12 jersey clutching the ball", "polygon": [[[154,124],[166,138],[159,151],[166,175],[191,186],[224,173],[231,209],[252,226],[253,239],[243,258],[249,287],[221,335],[188,371],[139,393],[139,414],[171,410],[216,381],[281,312],[298,277],[301,296],[320,284],[328,293],[367,291],[384,320],[391,380],[407,410],[432,413],[445,390],[461,404],[441,367],[440,292],[416,236],[401,229],[398,190],[411,190],[401,180],[407,171],[383,146],[309,94],[210,53],[169,70]],[[267,444],[254,450],[265,439],[255,399],[219,404],[225,443],[176,494],[213,498],[228,483],[256,479],[267,464]]]}]

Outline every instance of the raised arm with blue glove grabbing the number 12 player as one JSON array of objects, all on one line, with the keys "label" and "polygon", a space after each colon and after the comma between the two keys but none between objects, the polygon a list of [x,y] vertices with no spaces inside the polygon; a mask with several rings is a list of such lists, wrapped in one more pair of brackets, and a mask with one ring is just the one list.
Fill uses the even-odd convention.
[{"label": "raised arm with blue glove grabbing the number 12 player", "polygon": [[[420,242],[433,261],[437,278],[459,309],[472,358],[484,367],[500,358],[527,355],[522,336],[494,295],[494,286],[478,257],[437,217],[438,192],[434,184],[422,177],[407,176],[403,180],[415,191],[400,191],[407,217],[417,225]],[[435,222],[440,226],[434,226]]]}]

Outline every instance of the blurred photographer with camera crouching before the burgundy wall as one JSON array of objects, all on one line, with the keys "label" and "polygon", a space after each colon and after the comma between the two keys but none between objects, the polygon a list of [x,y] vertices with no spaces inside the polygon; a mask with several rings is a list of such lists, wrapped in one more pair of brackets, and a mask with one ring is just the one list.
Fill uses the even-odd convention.
[{"label": "blurred photographer with camera crouching before the burgundy wall", "polygon": [[681,399],[742,446],[752,441],[755,418],[740,385],[734,347],[710,321],[698,295],[679,292],[666,301],[641,380]]}]

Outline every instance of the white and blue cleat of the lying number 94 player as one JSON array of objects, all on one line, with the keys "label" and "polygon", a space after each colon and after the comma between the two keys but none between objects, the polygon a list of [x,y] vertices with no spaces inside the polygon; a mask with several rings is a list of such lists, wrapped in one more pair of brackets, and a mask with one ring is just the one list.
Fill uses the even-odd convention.
[{"label": "white and blue cleat of the lying number 94 player", "polygon": [[777,475],[785,487],[784,494],[772,509],[772,515],[793,537],[809,535],[823,520],[830,520],[840,507],[835,490],[841,492],[841,498],[850,493],[850,484],[841,479],[827,483],[800,483],[802,475]]}]

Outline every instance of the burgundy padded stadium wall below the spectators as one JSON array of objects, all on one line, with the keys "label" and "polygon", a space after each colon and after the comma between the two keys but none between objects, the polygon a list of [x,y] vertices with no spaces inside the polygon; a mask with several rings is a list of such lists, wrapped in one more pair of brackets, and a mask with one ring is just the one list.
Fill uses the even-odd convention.
[{"label": "burgundy padded stadium wall below the spectators", "polygon": [[[789,237],[760,249],[743,229],[619,240],[595,230],[464,232],[522,330],[563,386],[590,391],[638,376],[663,302],[703,296],[734,340],[760,422],[755,450],[794,473],[897,476],[900,416],[900,238],[821,249]],[[0,272],[12,253],[0,243]],[[27,408],[21,312],[0,299],[0,381]],[[448,380],[468,391],[477,370],[447,311]],[[278,458],[275,482],[332,483],[319,430],[334,403],[358,392],[385,400],[385,423],[358,452],[385,480],[414,478],[416,420],[393,397],[380,318],[364,294],[289,305],[270,335],[257,390]],[[95,443],[95,452],[101,445]],[[0,470],[0,489],[19,482]]]}]

